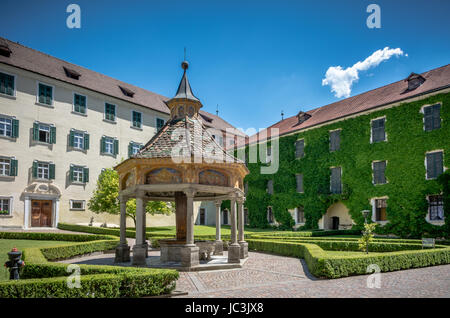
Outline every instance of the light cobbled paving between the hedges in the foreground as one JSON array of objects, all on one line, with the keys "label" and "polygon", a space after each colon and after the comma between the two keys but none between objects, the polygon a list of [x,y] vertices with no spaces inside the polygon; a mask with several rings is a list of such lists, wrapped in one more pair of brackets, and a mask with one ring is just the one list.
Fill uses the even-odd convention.
[{"label": "light cobbled paving between the hedges in the foreground", "polygon": [[[150,251],[150,255],[159,255]],[[93,255],[72,263],[113,265],[114,255]],[[65,261],[68,262],[68,261]],[[303,260],[249,252],[241,269],[181,272],[184,297],[450,297],[450,265],[381,274],[381,288],[368,288],[368,275],[316,279]]]}]

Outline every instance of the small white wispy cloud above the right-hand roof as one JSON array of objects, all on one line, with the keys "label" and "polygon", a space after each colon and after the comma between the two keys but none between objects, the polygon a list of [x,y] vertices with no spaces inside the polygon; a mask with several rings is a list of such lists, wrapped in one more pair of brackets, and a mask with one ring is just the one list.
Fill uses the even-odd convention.
[{"label": "small white wispy cloud above the right-hand roof", "polygon": [[[353,82],[359,79],[358,73],[367,71],[369,68],[378,66],[381,62],[389,60],[392,56],[401,56],[403,51],[400,48],[391,49],[385,47],[377,50],[362,62],[355,63],[352,67],[343,69],[342,66],[330,66],[322,80],[322,86],[330,85],[331,91],[337,98],[349,97],[352,92]],[[408,54],[406,54],[408,56]]]}]

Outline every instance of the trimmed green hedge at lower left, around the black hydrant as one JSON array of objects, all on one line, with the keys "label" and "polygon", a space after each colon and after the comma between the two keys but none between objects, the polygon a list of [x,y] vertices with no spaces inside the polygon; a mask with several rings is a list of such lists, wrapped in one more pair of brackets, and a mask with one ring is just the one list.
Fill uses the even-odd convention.
[{"label": "trimmed green hedge at lower left, around the black hydrant", "polygon": [[[115,248],[117,237],[59,233],[0,232],[4,239],[74,241],[71,245],[46,248],[26,248],[22,280],[0,283],[0,298],[5,297],[142,297],[169,293],[175,288],[179,274],[175,270],[104,265],[79,265],[81,288],[68,288],[70,264],[49,260],[69,258]],[[93,240],[95,238],[96,240]],[[87,242],[81,243],[83,239]]]}]

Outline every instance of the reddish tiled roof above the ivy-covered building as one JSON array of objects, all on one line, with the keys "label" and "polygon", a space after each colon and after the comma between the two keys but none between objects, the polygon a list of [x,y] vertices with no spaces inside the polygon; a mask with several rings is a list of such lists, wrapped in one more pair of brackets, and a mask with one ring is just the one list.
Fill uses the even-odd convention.
[{"label": "reddish tiled roof above the ivy-covered building", "polygon": [[[450,87],[450,64],[420,74],[425,82],[414,90],[408,91],[408,82],[403,79],[398,82],[382,86],[371,91],[340,100],[307,111],[311,117],[299,124],[297,116],[292,116],[279,121],[265,129],[270,136],[270,128],[278,128],[279,135],[286,135],[295,131],[310,128],[326,122],[354,115],[373,108],[399,102],[414,96],[423,95],[432,91]],[[247,138],[246,144],[258,141],[261,133]],[[262,137],[262,136],[261,136]],[[261,138],[263,140],[263,138]],[[261,140],[259,140],[261,141]],[[242,146],[242,143],[238,146]]]}]

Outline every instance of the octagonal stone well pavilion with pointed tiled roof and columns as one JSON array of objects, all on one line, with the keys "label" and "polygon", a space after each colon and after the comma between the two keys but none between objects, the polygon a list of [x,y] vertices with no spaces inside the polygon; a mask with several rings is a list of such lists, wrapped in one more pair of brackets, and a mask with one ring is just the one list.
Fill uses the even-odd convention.
[{"label": "octagonal stone well pavilion with pointed tiled roof and columns", "polygon": [[147,201],[175,202],[176,237],[161,240],[161,262],[178,262],[187,270],[199,266],[199,247],[194,241],[194,201],[215,201],[215,255],[222,255],[220,206],[231,201],[231,238],[228,263],[247,258],[244,239],[245,200],[243,179],[249,173],[245,163],[227,153],[202,123],[200,100],[192,93],[182,63],[183,77],[176,95],[166,101],[170,119],[135,155],[115,167],[119,174],[120,245],[116,262],[130,260],[126,240],[126,202],[136,198],[136,243],[132,264],[145,265]]}]

